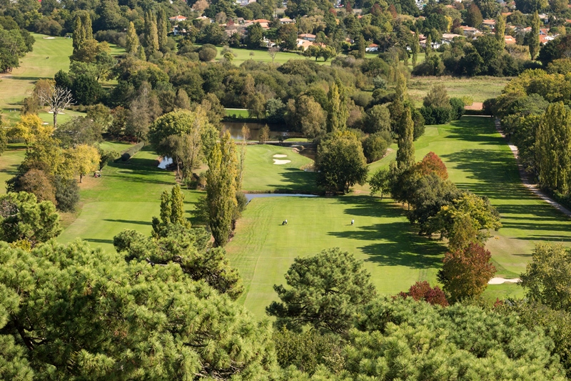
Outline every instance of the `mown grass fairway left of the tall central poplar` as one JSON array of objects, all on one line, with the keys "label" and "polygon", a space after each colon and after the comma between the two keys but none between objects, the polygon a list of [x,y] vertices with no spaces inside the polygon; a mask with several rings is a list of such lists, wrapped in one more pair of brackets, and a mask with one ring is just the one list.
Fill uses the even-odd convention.
[{"label": "mown grass fairway left of the tall central poplar", "polygon": [[[124,145],[111,147],[121,149]],[[109,164],[97,179],[85,177],[84,184],[80,184],[81,211],[58,241],[81,238],[113,252],[113,236],[123,229],[150,234],[151,218],[158,216],[161,193],[175,184],[173,173],[158,169],[157,164],[157,155],[144,148],[128,162]],[[184,194],[186,217],[191,217],[199,193],[185,190]]]}]

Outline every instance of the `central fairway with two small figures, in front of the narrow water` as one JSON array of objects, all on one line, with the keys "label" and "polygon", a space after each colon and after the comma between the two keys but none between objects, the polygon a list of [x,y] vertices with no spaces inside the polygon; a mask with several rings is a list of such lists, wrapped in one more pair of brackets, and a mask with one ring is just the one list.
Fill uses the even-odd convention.
[{"label": "central fairway with two small figures, in front of the narrow water", "polygon": [[[351,219],[355,225],[351,226]],[[284,219],[288,224],[281,225]],[[273,284],[293,258],[340,247],[365,261],[380,294],[393,295],[417,280],[435,282],[443,244],[415,234],[397,205],[369,196],[253,199],[227,246],[246,291],[241,297],[258,317],[276,300]]]}]

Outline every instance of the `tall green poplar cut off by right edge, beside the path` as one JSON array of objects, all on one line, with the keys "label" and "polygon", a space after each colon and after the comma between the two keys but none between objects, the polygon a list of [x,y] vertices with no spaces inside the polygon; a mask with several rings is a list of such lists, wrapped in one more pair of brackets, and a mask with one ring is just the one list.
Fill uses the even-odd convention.
[{"label": "tall green poplar cut off by right edge, beside the path", "polygon": [[540,186],[568,194],[571,190],[571,112],[562,102],[547,107],[535,139]]}]

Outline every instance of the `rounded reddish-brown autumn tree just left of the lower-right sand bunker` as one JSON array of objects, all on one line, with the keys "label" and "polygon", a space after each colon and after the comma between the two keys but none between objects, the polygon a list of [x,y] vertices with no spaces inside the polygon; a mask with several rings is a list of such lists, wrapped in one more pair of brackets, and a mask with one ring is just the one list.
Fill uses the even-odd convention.
[{"label": "rounded reddish-brown autumn tree just left of the lower-right sand bunker", "polygon": [[495,274],[491,258],[489,251],[475,243],[465,249],[447,252],[443,259],[444,266],[438,272],[438,280],[444,285],[448,300],[458,302],[481,295]]}]

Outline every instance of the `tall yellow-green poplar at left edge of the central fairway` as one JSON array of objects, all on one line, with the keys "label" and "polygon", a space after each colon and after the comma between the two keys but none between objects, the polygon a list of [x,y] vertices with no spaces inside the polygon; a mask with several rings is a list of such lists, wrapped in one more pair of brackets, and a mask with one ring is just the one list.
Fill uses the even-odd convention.
[{"label": "tall yellow-green poplar at left edge of the central fairway", "polygon": [[237,207],[236,167],[236,147],[227,131],[213,147],[206,172],[208,227],[218,247],[228,242],[232,231],[232,219]]}]

